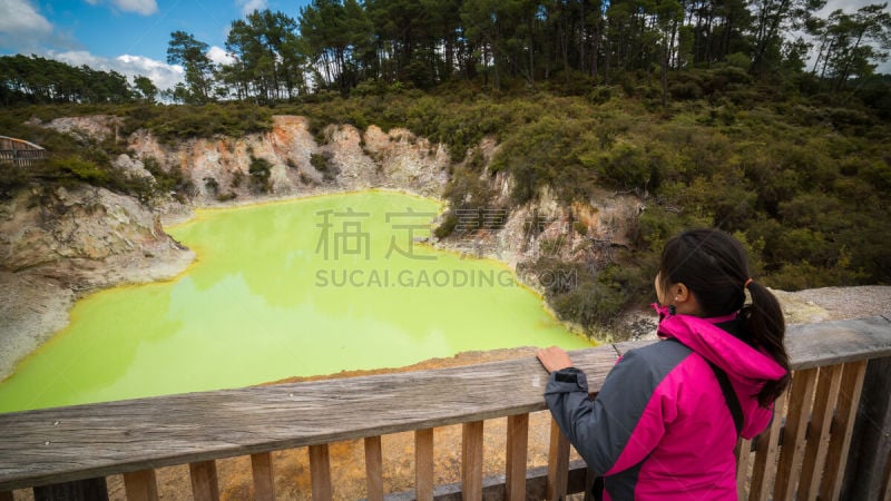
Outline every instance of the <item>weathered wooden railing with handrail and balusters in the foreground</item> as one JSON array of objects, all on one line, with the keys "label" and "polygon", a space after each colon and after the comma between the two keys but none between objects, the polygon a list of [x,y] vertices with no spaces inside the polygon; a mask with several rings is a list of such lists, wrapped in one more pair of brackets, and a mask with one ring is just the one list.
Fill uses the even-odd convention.
[{"label": "weathered wooden railing with handrail and balusters in the foreground", "polygon": [[[572,352],[600,387],[643,342]],[[772,425],[737,446],[741,499],[884,499],[889,487],[891,316],[793,325],[794,376]],[[533,357],[0,414],[0,501],[99,499],[123,473],[129,500],[158,498],[156,469],[188,464],[196,500],[219,495],[216,460],[249,455],[255,499],[275,499],[272,451],[306,448],[312,498],[332,499],[329,444],[364,439],[366,495],[559,499],[589,480],[551,422],[548,464],[527,470],[529,413],[545,409]],[[863,395],[861,397],[861,395]],[[483,478],[483,422],[507,416],[506,471]],[[461,424],[460,483],[434,485],[433,429]],[[413,492],[384,493],[381,436],[414,432]],[[182,493],[180,493],[182,494]]]}]

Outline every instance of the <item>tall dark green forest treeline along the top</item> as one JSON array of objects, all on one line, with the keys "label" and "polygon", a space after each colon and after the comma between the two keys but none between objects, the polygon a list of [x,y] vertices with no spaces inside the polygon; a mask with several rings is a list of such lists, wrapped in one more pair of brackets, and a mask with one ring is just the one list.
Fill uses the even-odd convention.
[{"label": "tall dark green forest treeline along the top", "polygon": [[[272,105],[325,91],[368,94],[452,81],[484,88],[560,86],[579,91],[642,73],[660,79],[719,65],[755,79],[797,78],[840,91],[873,75],[891,49],[888,3],[816,12],[825,0],[313,0],[296,17],[254,11],[232,22],[228,63],[186,31],[167,62],[184,82],[23,56],[0,59],[0,102],[185,104],[244,99]],[[790,33],[797,33],[791,37]],[[809,58],[809,53],[815,57]],[[691,91],[695,92],[695,89]]]}]

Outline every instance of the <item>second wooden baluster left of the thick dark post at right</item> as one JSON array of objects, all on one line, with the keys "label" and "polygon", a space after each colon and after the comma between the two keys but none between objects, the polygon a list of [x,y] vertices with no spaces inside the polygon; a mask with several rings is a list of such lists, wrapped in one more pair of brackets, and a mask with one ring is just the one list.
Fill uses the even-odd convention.
[{"label": "second wooden baluster left of the thick dark post at right", "polygon": [[816,395],[814,409],[811,414],[811,432],[807,446],[804,450],[804,462],[801,466],[799,480],[799,499],[802,501],[816,500],[820,487],[820,475],[826,463],[826,449],[830,440],[830,425],[839,400],[839,389],[842,383],[842,365],[828,365],[820,367],[816,381]]}]

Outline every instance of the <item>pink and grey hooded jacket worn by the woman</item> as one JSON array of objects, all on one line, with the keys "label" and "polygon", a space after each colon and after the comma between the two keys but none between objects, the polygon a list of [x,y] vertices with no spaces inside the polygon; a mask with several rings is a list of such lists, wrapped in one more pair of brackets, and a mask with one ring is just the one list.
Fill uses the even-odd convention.
[{"label": "pink and grey hooded jacket worn by the woman", "polygon": [[736,429],[706,360],[727,373],[746,439],[773,415],[758,405],[757,392],[785,370],[743,341],[736,314],[699,318],[657,310],[664,341],[627,352],[597,399],[588,397],[585,374],[570,367],[551,374],[545,400],[588,466],[604,477],[604,499],[735,500]]}]

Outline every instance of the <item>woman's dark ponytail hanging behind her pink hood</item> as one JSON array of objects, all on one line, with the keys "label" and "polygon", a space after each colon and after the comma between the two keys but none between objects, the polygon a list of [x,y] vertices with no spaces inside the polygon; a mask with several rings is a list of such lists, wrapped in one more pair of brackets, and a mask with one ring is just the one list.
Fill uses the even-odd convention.
[{"label": "woman's dark ponytail hanging behind her pink hood", "polygon": [[783,345],[785,321],[780,302],[767,291],[767,287],[756,282],[747,282],[746,288],[752,294],[752,304],[743,307],[740,312],[742,318],[745,320],[746,328],[755,344],[767,352],[786,371],[783,377],[765,382],[758,392],[758,404],[767,407],[783,394],[792,381],[789,354]]}]

